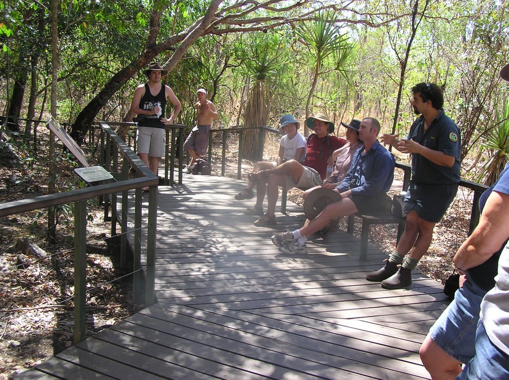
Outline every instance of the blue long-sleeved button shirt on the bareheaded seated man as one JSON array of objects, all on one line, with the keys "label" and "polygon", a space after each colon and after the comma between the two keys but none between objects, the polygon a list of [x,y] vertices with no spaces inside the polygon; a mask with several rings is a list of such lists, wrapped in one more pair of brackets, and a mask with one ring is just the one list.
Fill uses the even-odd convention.
[{"label": "blue long-sleeved button shirt on the bareheaded seated man", "polygon": [[394,156],[378,140],[364,153],[364,145],[355,152],[343,181],[336,187],[340,193],[374,196],[387,193],[394,179]]}]

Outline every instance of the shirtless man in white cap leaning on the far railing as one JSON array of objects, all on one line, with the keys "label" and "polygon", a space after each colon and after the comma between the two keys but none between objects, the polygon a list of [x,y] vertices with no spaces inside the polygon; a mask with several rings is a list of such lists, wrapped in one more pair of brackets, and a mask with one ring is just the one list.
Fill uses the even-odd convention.
[{"label": "shirtless man in white cap leaning on the far railing", "polygon": [[191,155],[191,162],[184,169],[184,173],[191,173],[194,162],[207,153],[212,119],[219,119],[216,107],[210,100],[207,100],[207,91],[204,88],[199,88],[196,90],[196,96],[198,97],[198,101],[194,105],[197,112],[196,126],[184,143],[184,149]]}]

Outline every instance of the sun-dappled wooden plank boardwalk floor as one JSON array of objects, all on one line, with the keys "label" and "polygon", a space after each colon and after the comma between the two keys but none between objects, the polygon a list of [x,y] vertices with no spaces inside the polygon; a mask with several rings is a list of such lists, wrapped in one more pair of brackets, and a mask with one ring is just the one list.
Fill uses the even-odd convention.
[{"label": "sun-dappled wooden plank boardwalk floor", "polygon": [[413,274],[409,290],[368,282],[386,256],[338,231],[285,255],[275,231],[302,210],[254,227],[243,183],[184,177],[160,187],[158,303],[16,379],[428,379],[418,350],[446,307],[442,286]]}]

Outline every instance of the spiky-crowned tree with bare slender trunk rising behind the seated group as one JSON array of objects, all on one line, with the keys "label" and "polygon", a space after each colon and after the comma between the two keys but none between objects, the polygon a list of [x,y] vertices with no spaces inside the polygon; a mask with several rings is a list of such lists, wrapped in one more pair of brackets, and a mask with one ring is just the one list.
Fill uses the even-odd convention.
[{"label": "spiky-crowned tree with bare slender trunk rising behind the seated group", "polygon": [[[346,33],[341,33],[336,18],[334,11],[320,11],[313,21],[302,22],[295,30],[306,48],[308,61],[313,62],[314,67],[306,101],[306,119],[319,77],[332,70],[344,72],[350,65],[354,45],[349,43]],[[307,136],[307,126],[304,131]]]}]

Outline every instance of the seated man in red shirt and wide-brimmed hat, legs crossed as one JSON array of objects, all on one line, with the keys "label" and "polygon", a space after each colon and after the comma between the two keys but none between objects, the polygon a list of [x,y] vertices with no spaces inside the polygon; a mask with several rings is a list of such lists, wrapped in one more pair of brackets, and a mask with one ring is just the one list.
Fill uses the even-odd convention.
[{"label": "seated man in red shirt and wide-brimmed hat, legs crossed", "polygon": [[[253,182],[267,182],[267,212],[254,222],[255,226],[276,224],[278,186],[286,186],[288,190],[295,186],[308,189],[321,185],[327,164],[332,165],[332,153],[347,143],[345,139],[329,135],[334,131],[334,124],[322,112],[308,117],[306,124],[315,133],[307,138],[306,158],[302,164],[289,160],[273,169],[263,169],[250,175],[249,179]],[[262,214],[263,209],[255,209],[254,212]]]}]

